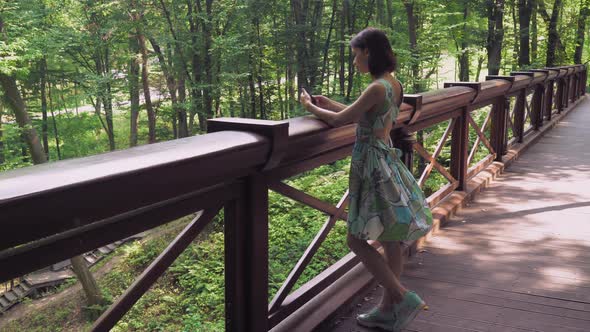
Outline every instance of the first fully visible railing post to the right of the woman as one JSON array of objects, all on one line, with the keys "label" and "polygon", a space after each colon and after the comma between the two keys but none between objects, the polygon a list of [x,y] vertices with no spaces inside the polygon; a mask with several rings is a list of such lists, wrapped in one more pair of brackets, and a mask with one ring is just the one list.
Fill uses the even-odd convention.
[{"label": "first fully visible railing post to the right of the woman", "polygon": [[457,190],[467,189],[467,158],[469,154],[469,122],[467,115],[469,107],[461,110],[453,127],[451,142],[451,175],[457,179],[459,186]]}]

